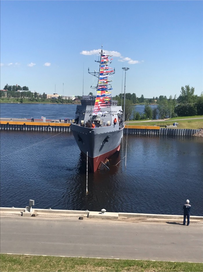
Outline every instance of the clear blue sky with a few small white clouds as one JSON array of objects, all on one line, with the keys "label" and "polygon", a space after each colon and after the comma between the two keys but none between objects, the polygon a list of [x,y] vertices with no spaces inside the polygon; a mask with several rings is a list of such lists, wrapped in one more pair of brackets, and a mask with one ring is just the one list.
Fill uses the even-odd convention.
[{"label": "clear blue sky with a few small white clouds", "polygon": [[[97,80],[103,44],[115,67],[112,95],[203,91],[203,1],[1,1],[1,89],[82,95]],[[63,85],[64,83],[64,85]],[[63,89],[64,86],[64,89]],[[124,91],[124,87],[123,87]]]}]

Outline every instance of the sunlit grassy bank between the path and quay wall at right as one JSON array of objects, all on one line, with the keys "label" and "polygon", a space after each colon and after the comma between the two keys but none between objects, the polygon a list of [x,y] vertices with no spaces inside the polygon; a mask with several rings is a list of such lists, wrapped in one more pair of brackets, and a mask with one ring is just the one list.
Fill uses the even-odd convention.
[{"label": "sunlit grassy bank between the path and quay wall at right", "polygon": [[[165,127],[166,125],[173,125],[174,121],[168,120],[168,121],[162,121],[162,122],[145,122],[145,123],[140,123],[140,122],[129,122],[129,125],[134,125],[134,126],[161,126]],[[191,119],[191,120],[178,120],[177,121],[178,126],[177,128],[189,128],[189,129],[198,129],[198,128],[203,128],[203,119]],[[126,122],[126,125],[128,123]]]}]

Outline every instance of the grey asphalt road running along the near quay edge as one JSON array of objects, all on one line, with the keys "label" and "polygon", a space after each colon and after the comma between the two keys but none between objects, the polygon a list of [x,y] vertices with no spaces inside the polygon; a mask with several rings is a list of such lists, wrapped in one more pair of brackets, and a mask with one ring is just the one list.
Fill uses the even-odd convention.
[{"label": "grey asphalt road running along the near quay edge", "polygon": [[2,216],[0,252],[203,262],[202,224]]}]

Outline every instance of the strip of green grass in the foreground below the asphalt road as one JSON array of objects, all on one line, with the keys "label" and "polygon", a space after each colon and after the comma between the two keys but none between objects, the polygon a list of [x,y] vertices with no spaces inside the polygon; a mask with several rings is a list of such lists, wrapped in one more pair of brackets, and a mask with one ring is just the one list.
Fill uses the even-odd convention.
[{"label": "strip of green grass in the foreground below the asphalt road", "polygon": [[203,264],[32,255],[0,255],[0,271],[203,271]]}]

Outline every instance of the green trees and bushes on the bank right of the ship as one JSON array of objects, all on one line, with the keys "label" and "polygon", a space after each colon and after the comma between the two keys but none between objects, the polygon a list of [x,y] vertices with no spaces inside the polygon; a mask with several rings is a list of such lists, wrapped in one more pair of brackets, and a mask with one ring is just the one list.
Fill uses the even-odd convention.
[{"label": "green trees and bushes on the bank right of the ship", "polygon": [[[194,115],[203,115],[203,93],[200,96],[194,94],[195,88],[186,85],[181,88],[180,96],[176,99],[169,96],[159,96],[155,98],[157,100],[157,107],[152,109],[149,103],[146,103],[144,96],[141,101],[146,103],[144,107],[144,114],[139,114],[134,110],[134,101],[137,101],[135,94],[126,94],[125,101],[125,120],[144,120],[144,119],[160,119],[173,118],[176,116],[194,116]],[[133,101],[133,97],[134,100]],[[142,97],[142,96],[141,96]],[[122,105],[124,108],[124,98],[122,94],[119,94],[113,97],[114,100],[118,100],[118,105]],[[153,98],[154,99],[154,98]],[[152,99],[152,100],[153,100]]]}]

